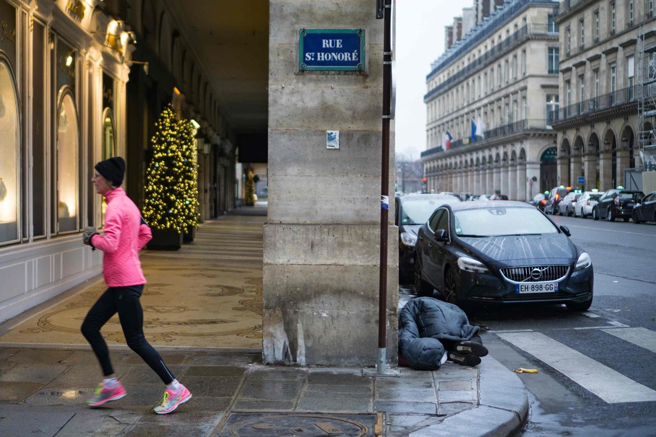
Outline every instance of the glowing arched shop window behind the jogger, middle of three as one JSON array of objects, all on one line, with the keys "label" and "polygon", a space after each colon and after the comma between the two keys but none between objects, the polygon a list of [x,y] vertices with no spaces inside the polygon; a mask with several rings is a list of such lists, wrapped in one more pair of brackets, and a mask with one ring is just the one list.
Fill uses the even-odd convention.
[{"label": "glowing arched shop window behind the jogger, middle of three", "polygon": [[77,111],[64,88],[57,112],[57,231],[77,230]]}]

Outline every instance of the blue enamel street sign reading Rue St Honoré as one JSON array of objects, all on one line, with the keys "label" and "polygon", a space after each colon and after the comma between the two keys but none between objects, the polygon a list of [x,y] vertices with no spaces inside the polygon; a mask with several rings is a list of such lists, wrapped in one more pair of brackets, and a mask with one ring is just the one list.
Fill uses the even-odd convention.
[{"label": "blue enamel street sign reading Rue St Honor\u00e9", "polygon": [[363,29],[300,29],[300,71],[364,71]]}]

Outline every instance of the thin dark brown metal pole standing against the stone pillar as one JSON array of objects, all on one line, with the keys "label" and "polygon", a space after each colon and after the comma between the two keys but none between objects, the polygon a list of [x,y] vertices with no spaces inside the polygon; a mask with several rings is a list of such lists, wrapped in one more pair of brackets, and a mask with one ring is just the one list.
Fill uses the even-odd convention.
[{"label": "thin dark brown metal pole standing against the stone pillar", "polygon": [[384,373],[387,337],[387,217],[390,185],[390,99],[392,96],[392,0],[384,0],[384,43],[382,56],[382,165],[380,172],[380,281],[378,356],[376,370]]}]

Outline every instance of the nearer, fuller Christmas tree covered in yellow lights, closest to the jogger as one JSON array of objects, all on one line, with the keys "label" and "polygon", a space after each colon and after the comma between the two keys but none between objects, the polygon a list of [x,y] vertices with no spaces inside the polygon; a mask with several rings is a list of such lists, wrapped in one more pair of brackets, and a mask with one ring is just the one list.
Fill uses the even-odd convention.
[{"label": "nearer, fuller Christmas tree covered in yellow lights, closest to the jogger", "polygon": [[153,157],[146,170],[144,219],[153,229],[182,233],[187,227],[183,195],[185,157],[180,126],[171,105],[164,108],[155,126],[157,132],[150,140]]}]

